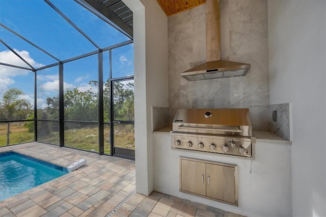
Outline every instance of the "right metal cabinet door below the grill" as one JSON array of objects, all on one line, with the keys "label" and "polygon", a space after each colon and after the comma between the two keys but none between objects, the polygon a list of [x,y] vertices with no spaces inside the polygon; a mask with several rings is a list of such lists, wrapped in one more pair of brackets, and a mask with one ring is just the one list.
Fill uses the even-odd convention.
[{"label": "right metal cabinet door below the grill", "polygon": [[234,168],[206,164],[206,196],[235,203]]}]

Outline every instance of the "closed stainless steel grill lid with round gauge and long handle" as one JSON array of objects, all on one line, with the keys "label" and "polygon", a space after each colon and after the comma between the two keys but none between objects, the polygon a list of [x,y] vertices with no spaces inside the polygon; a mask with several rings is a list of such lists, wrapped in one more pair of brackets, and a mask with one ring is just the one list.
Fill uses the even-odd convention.
[{"label": "closed stainless steel grill lid with round gauge and long handle", "polygon": [[252,124],[248,108],[180,109],[173,131],[252,137]]}]

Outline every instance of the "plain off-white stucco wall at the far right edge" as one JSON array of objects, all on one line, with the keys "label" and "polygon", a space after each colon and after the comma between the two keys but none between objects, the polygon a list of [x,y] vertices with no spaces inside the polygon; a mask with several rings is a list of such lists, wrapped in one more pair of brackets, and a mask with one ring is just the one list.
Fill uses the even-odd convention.
[{"label": "plain off-white stucco wall at the far right edge", "polygon": [[293,216],[326,216],[325,8],[268,1],[270,103],[292,103]]}]

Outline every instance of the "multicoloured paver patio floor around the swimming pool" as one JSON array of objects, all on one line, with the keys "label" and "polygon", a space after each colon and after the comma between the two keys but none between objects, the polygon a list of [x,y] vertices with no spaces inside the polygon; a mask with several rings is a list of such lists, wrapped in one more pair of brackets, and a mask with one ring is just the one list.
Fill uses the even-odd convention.
[{"label": "multicoloured paver patio floor around the swimming pool", "polygon": [[78,170],[0,201],[0,216],[241,216],[153,192],[135,193],[134,161],[38,142],[0,147]]}]

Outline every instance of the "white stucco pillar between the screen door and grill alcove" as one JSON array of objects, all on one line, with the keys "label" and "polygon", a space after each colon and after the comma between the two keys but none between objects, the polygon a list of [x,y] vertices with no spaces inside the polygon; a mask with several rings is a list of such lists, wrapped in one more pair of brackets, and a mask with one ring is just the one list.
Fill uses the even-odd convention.
[{"label": "white stucco pillar between the screen door and grill alcove", "polygon": [[153,191],[152,106],[167,107],[168,19],[152,0],[124,0],[133,11],[136,190]]}]

